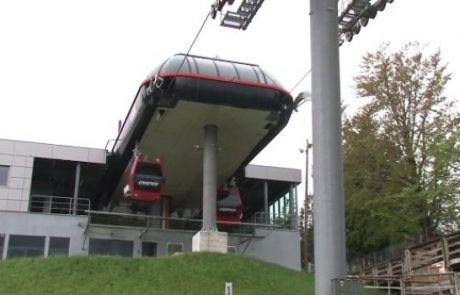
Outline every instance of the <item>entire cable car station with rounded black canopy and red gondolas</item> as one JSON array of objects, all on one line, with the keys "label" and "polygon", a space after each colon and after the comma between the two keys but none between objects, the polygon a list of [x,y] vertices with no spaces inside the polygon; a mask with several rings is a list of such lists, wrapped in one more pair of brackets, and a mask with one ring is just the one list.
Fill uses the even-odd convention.
[{"label": "entire cable car station with rounded black canopy and red gondolas", "polygon": [[249,164],[292,110],[257,65],[179,54],[111,149],[1,139],[1,257],[217,251],[300,270],[301,171]]}]

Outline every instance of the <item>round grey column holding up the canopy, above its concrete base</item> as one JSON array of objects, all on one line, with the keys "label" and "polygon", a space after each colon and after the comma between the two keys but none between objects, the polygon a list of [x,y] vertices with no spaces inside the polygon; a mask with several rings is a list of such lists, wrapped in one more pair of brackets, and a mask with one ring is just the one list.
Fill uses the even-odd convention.
[{"label": "round grey column holding up the canopy, above its concrete base", "polygon": [[217,231],[217,126],[204,126],[203,146],[203,228],[202,231]]}]

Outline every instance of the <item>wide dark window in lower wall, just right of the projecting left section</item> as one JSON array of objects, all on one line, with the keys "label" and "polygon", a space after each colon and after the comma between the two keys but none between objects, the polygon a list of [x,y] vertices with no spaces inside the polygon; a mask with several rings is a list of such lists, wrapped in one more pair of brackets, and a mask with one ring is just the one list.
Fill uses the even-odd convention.
[{"label": "wide dark window in lower wall, just right of the projecting left section", "polygon": [[133,245],[133,241],[89,239],[89,254],[132,257]]}]

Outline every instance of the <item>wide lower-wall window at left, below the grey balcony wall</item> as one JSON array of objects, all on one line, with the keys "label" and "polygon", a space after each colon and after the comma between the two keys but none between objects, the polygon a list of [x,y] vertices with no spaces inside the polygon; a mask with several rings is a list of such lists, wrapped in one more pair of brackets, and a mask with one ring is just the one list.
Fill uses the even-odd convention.
[{"label": "wide lower-wall window at left, below the grey balcony wall", "polygon": [[45,237],[10,235],[8,258],[45,255]]}]

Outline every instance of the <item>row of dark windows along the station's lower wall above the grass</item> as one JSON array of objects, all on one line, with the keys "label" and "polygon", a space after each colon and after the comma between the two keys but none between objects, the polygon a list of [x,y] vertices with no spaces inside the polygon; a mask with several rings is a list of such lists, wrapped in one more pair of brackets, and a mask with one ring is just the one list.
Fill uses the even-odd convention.
[{"label": "row of dark windows along the station's lower wall above the grass", "polygon": [[[0,258],[7,247],[5,257],[36,257],[45,256],[44,236],[10,235],[8,245],[5,246],[5,235],[0,234]],[[69,255],[70,238],[50,237],[48,256]],[[89,239],[89,255],[117,255],[132,257],[134,242],[127,240]],[[167,244],[168,255],[183,252],[183,244]],[[142,256],[157,256],[157,243],[142,242]]]}]

